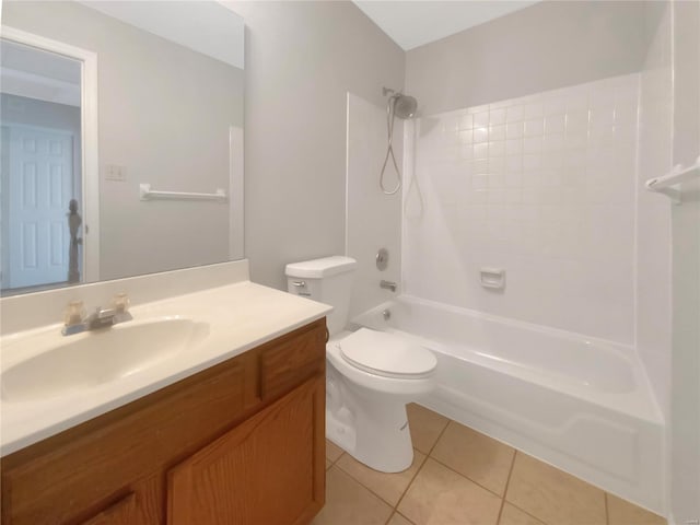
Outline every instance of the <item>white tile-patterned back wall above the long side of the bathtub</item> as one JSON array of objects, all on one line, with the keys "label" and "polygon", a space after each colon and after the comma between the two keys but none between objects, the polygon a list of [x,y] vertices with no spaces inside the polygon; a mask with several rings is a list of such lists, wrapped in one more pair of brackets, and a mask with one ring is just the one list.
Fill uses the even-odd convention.
[{"label": "white tile-patterned back wall above the long side of the bathtub", "polygon": [[[406,126],[405,293],[632,343],[639,84],[615,77]],[[481,287],[482,267],[505,270],[504,290]]]}]

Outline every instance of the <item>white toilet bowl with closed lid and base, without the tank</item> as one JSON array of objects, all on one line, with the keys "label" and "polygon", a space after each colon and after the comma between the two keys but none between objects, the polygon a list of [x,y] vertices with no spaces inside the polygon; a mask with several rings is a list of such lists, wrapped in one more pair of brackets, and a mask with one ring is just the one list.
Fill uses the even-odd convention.
[{"label": "white toilet bowl with closed lid and base, without the tank", "polygon": [[[373,339],[376,343],[363,346],[358,336],[362,343]],[[381,364],[372,359],[357,361],[358,355],[349,358],[345,351],[350,347],[361,357],[361,350],[368,357],[381,357],[382,345],[400,348],[401,360]],[[434,388],[435,357],[392,334],[361,328],[331,339],[326,345],[326,436],[375,470],[409,468],[413,446],[406,405]]]}]

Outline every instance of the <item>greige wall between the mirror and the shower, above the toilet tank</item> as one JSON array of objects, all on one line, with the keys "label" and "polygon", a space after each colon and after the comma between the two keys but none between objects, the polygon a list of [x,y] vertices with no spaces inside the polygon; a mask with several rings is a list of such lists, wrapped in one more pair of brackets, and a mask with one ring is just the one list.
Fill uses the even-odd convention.
[{"label": "greige wall between the mirror and the shower, above the toilet tank", "polygon": [[246,24],[245,253],[285,288],[287,262],[345,252],[347,92],[400,89],[404,51],[351,2],[231,2]]}]

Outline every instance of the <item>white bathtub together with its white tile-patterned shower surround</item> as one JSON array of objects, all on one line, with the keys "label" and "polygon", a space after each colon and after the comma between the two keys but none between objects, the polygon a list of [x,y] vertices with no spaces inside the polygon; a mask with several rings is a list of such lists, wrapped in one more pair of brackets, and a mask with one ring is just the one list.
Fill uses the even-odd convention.
[{"label": "white bathtub together with its white tile-patterned shower surround", "polygon": [[[349,95],[347,253],[353,320],[439,355],[423,402],[663,514],[664,416],[634,345],[640,89],[633,73],[407,120],[401,208],[378,188],[385,110]],[[380,272],[399,231],[400,267]]]}]

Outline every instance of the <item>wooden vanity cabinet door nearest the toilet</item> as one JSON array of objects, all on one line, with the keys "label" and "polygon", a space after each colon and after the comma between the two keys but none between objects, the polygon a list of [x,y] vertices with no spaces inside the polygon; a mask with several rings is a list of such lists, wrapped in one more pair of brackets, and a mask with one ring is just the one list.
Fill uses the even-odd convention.
[{"label": "wooden vanity cabinet door nearest the toilet", "polygon": [[168,525],[301,525],[324,504],[318,375],[168,472]]}]

